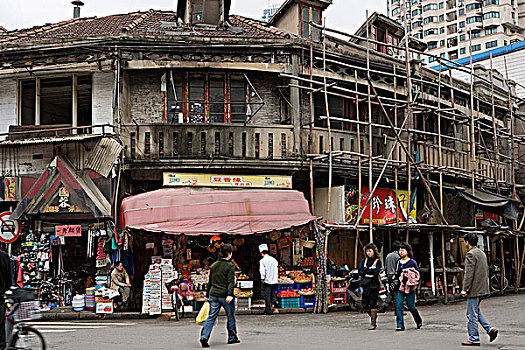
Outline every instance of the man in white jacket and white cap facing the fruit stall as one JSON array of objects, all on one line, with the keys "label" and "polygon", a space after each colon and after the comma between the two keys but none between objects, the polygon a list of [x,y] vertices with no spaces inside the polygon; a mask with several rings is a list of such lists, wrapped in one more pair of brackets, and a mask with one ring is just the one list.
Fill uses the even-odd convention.
[{"label": "man in white jacket and white cap facing the fruit stall", "polygon": [[266,308],[264,313],[266,315],[272,314],[272,305],[277,306],[277,282],[279,279],[279,263],[274,257],[269,255],[268,245],[261,244],[259,246],[261,252],[260,272],[261,282],[264,290],[264,302]]}]

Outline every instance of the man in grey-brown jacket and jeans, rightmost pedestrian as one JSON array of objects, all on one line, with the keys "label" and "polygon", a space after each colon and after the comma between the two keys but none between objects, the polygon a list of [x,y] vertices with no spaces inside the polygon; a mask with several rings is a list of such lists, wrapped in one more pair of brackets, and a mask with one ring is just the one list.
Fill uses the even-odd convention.
[{"label": "man in grey-brown jacket and jeans, rightmost pedestrian", "polygon": [[478,248],[478,236],[467,233],[464,237],[465,247],[468,250],[465,256],[465,276],[461,294],[467,297],[467,332],[468,340],[463,346],[480,346],[478,322],[489,335],[490,342],[498,336],[498,330],[483,316],[479,304],[484,297],[490,294],[489,266],[487,256]]}]

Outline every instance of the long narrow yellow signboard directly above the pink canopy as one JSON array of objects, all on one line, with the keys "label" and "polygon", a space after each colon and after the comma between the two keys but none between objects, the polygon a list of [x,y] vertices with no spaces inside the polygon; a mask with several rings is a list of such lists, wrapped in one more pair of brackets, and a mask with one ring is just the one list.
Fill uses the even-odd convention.
[{"label": "long narrow yellow signboard directly above the pink canopy", "polygon": [[292,188],[292,177],[164,173],[163,184],[164,186],[190,187]]}]

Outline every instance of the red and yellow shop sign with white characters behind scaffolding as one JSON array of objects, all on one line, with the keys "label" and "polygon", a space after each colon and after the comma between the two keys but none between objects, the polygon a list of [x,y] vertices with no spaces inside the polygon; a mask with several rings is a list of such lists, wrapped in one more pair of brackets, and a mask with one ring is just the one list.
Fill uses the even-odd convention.
[{"label": "red and yellow shop sign with white characters behind scaffolding", "polygon": [[[369,197],[368,188],[364,187],[361,190],[361,208],[364,208],[368,197]],[[399,201],[399,221],[405,222],[406,213],[408,211],[409,198],[408,191],[398,191],[398,201]],[[391,189],[378,188],[374,191],[372,199],[368,203],[367,207],[363,213],[362,223],[368,224],[370,222],[370,208],[372,208],[372,223],[376,225],[387,225],[396,222],[396,216],[398,208],[396,207],[396,200],[394,191]],[[413,203],[412,211],[410,212],[410,217],[416,220],[416,201]]]}]

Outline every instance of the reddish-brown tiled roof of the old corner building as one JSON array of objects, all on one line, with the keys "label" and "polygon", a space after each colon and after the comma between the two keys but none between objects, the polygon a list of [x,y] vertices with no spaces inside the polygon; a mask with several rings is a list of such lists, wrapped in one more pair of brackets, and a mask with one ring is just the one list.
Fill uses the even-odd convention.
[{"label": "reddish-brown tiled roof of the old corner building", "polygon": [[287,34],[263,22],[241,16],[230,16],[232,26],[189,27],[178,22],[174,11],[134,12],[106,17],[76,18],[41,27],[16,30],[0,36],[0,43],[37,42],[46,39],[75,39],[119,35],[183,35],[196,37],[240,37],[275,39]]}]

